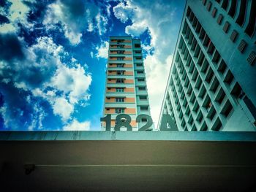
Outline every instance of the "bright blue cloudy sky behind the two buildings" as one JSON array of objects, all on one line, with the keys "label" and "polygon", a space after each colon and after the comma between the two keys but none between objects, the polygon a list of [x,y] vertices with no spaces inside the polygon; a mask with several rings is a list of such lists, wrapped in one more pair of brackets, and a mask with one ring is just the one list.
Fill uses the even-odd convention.
[{"label": "bright blue cloudy sky behind the two buildings", "polygon": [[108,39],[127,35],[157,125],[184,4],[0,0],[0,131],[101,130]]}]

